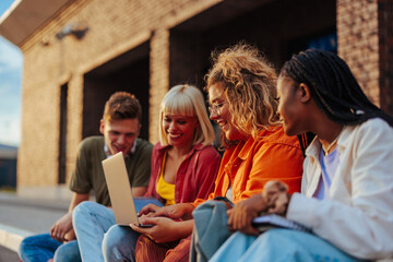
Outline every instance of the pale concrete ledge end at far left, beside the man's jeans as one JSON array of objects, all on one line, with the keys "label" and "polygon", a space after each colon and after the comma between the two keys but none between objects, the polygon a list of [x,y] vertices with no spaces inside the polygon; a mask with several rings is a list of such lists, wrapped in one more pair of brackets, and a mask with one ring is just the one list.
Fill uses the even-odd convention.
[{"label": "pale concrete ledge end at far left, beside the man's jeans", "polygon": [[21,241],[33,235],[31,231],[0,224],[0,246],[17,252]]}]

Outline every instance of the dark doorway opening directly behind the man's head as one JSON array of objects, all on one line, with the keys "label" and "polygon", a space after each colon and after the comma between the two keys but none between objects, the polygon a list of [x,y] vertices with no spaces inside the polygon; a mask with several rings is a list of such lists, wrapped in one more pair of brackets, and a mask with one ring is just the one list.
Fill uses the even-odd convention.
[{"label": "dark doorway opening directly behind the man's head", "polygon": [[143,111],[141,138],[148,140],[150,43],[104,63],[84,75],[83,138],[99,134],[99,120],[109,96],[117,91],[134,94]]}]

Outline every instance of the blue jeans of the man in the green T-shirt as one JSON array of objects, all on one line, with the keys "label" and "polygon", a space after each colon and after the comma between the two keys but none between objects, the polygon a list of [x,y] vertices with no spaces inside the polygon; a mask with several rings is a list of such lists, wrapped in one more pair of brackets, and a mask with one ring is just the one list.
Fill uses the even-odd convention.
[{"label": "blue jeans of the man in the green T-shirt", "polygon": [[50,234],[35,235],[22,240],[19,255],[24,262],[80,262],[81,255],[76,240],[61,243],[50,237]]}]

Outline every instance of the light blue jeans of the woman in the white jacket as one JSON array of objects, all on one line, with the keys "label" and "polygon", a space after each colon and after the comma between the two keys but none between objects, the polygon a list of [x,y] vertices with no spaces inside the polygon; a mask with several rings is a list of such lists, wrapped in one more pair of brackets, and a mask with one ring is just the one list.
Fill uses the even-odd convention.
[{"label": "light blue jeans of the woman in the white jacket", "polygon": [[315,235],[275,228],[259,237],[237,231],[210,261],[355,262],[362,260],[344,253]]}]

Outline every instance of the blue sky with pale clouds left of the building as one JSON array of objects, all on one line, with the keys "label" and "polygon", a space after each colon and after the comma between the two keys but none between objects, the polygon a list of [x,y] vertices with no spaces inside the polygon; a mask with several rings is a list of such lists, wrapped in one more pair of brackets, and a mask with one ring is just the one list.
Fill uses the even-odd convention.
[{"label": "blue sky with pale clouds left of the building", "polygon": [[[0,16],[14,0],[0,0]],[[0,144],[17,146],[21,141],[21,94],[23,55],[0,36]]]}]

